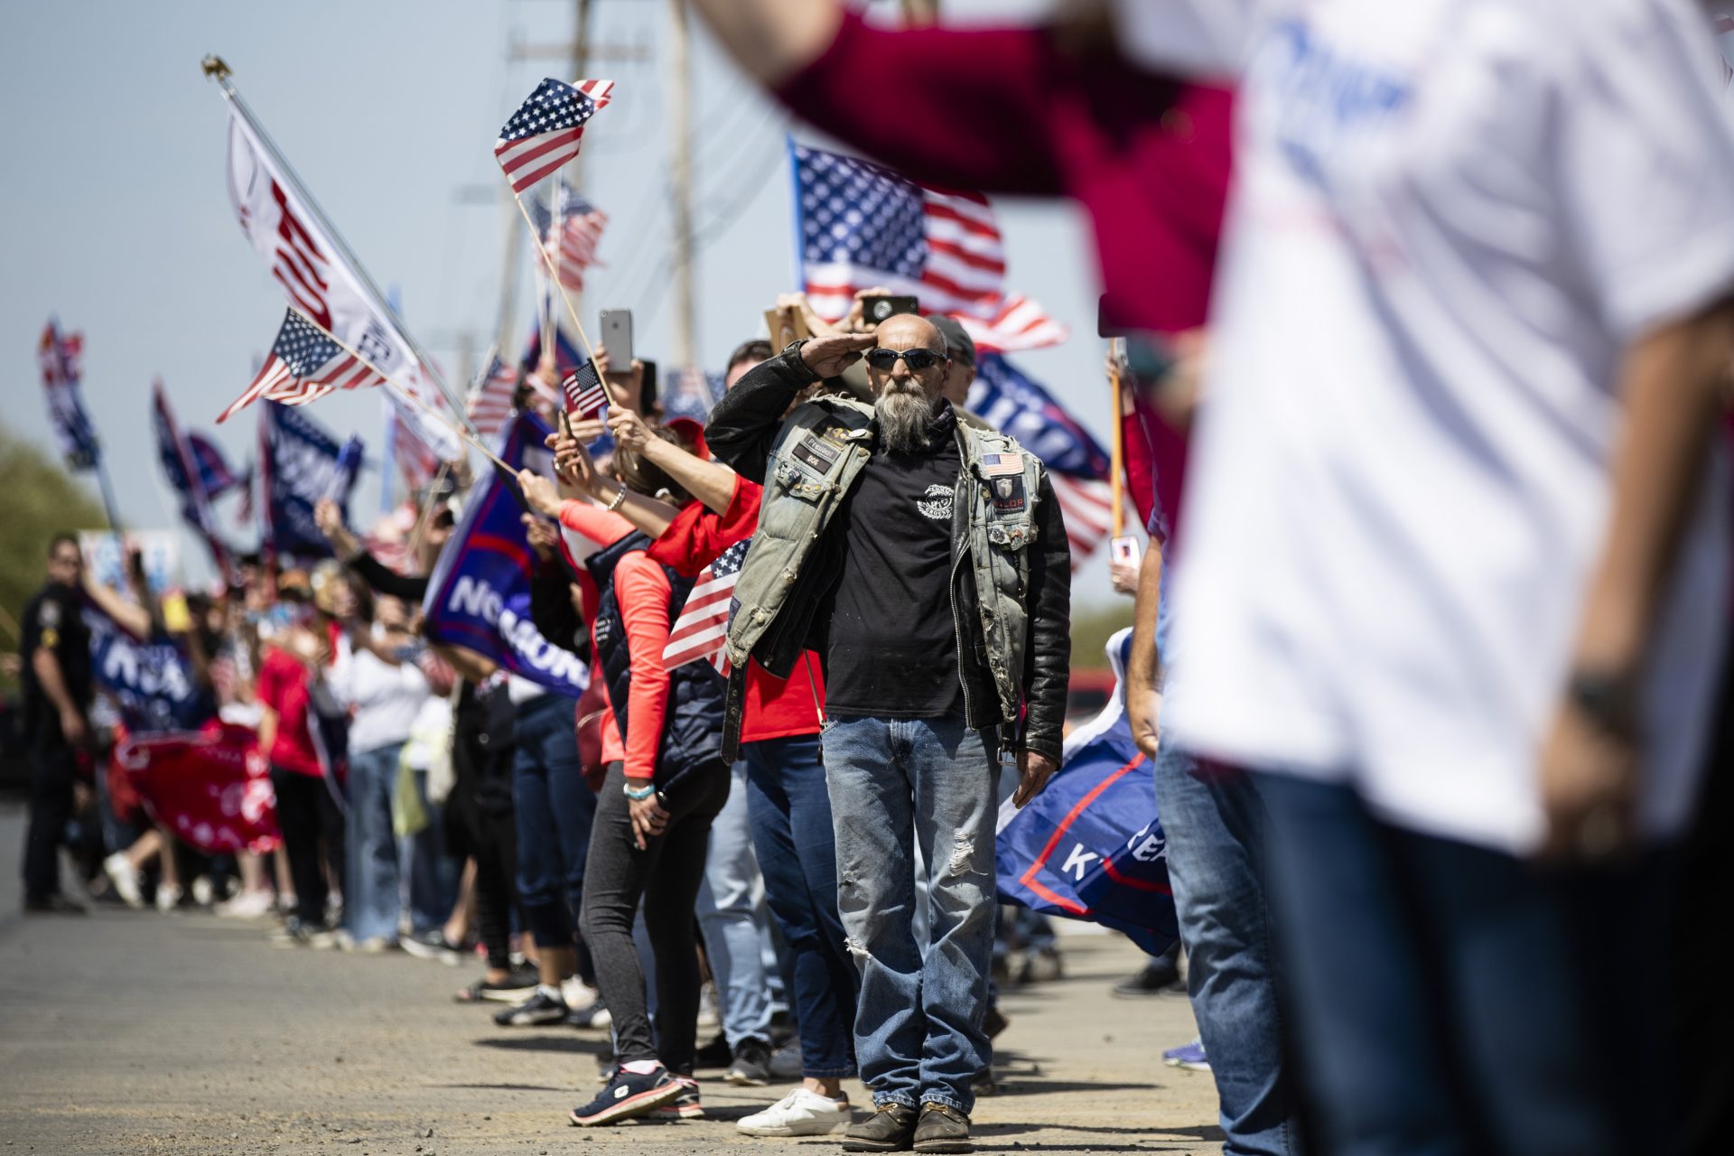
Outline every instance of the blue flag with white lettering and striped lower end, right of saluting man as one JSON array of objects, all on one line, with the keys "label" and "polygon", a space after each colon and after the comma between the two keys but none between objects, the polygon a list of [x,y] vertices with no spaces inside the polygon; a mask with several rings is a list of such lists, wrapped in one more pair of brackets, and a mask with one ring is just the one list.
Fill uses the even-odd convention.
[{"label": "blue flag with white lettering and striped lower end, right of saluting man", "polygon": [[995,430],[1018,438],[1047,466],[1054,499],[1065,513],[1072,568],[1077,568],[1113,529],[1108,451],[1047,390],[999,354],[976,355],[976,380],[964,406]]}]

